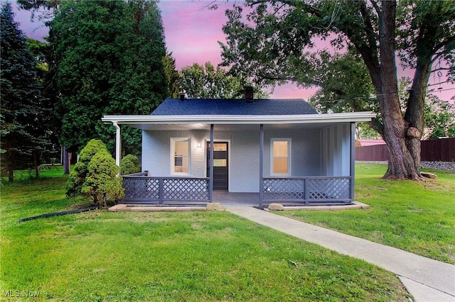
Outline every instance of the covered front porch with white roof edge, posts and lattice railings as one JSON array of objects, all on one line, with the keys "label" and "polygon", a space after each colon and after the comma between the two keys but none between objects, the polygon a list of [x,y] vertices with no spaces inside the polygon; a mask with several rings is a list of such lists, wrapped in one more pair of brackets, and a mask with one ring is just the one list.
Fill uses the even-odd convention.
[{"label": "covered front porch with white roof edge, posts and lattice railings", "polygon": [[[118,165],[119,125],[143,130],[144,172],[122,176],[122,203],[187,206],[225,201],[255,206],[314,206],[354,200],[355,122],[369,121],[371,116],[105,116],[103,121],[117,129]],[[188,138],[190,145],[192,162],[184,177],[168,172],[174,160],[168,154],[173,136]],[[289,140],[292,159],[288,158],[286,175],[273,173],[274,155],[270,150],[274,138]],[[230,143],[230,180],[228,190],[222,191],[213,189],[213,150],[218,141]],[[205,145],[207,150],[200,150]],[[313,151],[308,155],[310,149]],[[144,152],[154,156],[144,157]]]}]

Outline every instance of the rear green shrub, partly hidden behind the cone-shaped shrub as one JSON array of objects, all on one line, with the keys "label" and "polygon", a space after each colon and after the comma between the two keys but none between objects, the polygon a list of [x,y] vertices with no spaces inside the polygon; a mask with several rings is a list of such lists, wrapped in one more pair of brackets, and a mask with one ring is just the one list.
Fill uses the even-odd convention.
[{"label": "rear green shrub, partly hidden behind the cone-shaped shrub", "polygon": [[66,196],[82,194],[81,189],[82,184],[85,182],[85,177],[87,177],[88,164],[90,163],[90,160],[92,160],[92,157],[100,150],[105,150],[107,152],[106,145],[101,140],[90,140],[90,142],[87,142],[87,145],[80,151],[79,161],[75,164],[66,183]]}]

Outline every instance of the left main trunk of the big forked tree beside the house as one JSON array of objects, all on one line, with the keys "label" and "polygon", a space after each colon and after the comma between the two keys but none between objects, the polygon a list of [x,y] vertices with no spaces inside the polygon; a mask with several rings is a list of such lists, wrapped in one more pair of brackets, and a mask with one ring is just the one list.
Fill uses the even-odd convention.
[{"label": "left main trunk of the big forked tree beside the house", "polygon": [[[379,97],[389,160],[385,179],[421,179],[412,153],[407,149],[407,125],[402,118],[398,99],[397,67],[395,63],[395,1],[382,1],[380,18],[380,77]],[[377,89],[378,90],[378,89]]]}]

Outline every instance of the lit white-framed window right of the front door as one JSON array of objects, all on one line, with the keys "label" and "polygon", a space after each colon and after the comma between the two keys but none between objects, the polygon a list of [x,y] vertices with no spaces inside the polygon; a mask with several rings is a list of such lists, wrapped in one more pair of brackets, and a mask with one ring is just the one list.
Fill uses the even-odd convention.
[{"label": "lit white-framed window right of the front door", "polygon": [[290,138],[272,138],[271,167],[272,175],[289,175],[289,162],[291,155]]}]

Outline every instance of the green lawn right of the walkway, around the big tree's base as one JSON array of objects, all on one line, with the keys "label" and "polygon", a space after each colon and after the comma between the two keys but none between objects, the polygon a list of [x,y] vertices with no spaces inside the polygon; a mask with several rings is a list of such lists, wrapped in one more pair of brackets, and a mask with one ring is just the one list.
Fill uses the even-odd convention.
[{"label": "green lawn right of the walkway, around the big tree's base", "polygon": [[307,223],[455,264],[455,173],[426,182],[387,181],[385,164],[355,164],[355,200],[365,210],[282,212]]}]

